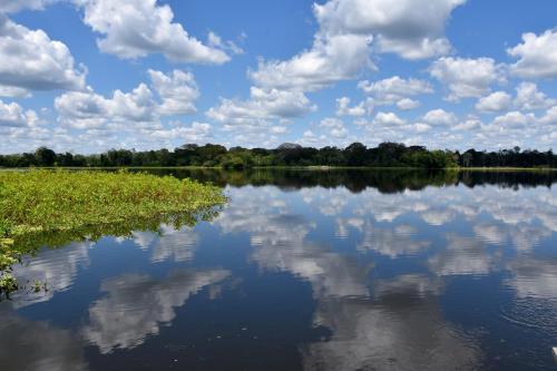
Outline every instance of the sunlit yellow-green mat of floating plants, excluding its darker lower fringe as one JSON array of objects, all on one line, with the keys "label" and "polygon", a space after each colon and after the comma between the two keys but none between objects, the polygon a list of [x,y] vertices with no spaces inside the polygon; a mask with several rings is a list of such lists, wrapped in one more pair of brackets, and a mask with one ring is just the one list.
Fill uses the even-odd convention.
[{"label": "sunlit yellow-green mat of floating plants, excluding its darker lower fringe", "polygon": [[0,173],[0,225],[14,235],[121,223],[222,204],[219,188],[145,173]]}]

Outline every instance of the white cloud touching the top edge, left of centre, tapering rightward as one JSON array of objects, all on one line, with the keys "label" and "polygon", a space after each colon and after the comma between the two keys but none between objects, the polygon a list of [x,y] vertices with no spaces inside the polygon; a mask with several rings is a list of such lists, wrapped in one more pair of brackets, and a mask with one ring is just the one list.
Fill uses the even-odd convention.
[{"label": "white cloud touching the top edge, left of centre, tapering rightward", "polygon": [[156,0],[77,0],[85,9],[84,21],[104,37],[99,49],[120,58],[163,53],[174,62],[224,64],[229,57],[203,45],[173,22],[169,6]]}]

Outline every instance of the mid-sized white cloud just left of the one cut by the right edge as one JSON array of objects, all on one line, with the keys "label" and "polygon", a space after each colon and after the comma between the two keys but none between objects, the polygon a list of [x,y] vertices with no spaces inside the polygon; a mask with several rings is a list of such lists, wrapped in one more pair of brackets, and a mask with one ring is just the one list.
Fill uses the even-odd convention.
[{"label": "mid-sized white cloud just left of the one cut by the right edge", "polygon": [[448,86],[449,100],[481,97],[491,84],[502,81],[502,66],[491,58],[465,59],[443,57],[429,68],[432,77]]}]

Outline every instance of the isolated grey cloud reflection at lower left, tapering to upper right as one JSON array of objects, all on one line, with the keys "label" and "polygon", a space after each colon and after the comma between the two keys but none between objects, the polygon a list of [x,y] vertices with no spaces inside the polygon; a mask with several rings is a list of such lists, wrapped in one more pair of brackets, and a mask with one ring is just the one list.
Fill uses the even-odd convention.
[{"label": "isolated grey cloud reflection at lower left, tapering to upper right", "polygon": [[174,320],[175,307],[228,275],[225,270],[179,270],[162,280],[146,274],[105,280],[101,291],[107,294],[89,309],[89,323],[82,335],[101,353],[115,348],[135,348]]}]

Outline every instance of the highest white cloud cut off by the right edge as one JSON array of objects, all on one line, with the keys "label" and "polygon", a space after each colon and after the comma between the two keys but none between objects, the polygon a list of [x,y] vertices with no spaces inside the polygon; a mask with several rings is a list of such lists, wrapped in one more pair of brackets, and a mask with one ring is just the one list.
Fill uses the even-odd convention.
[{"label": "highest white cloud cut off by the right edge", "polygon": [[507,49],[518,61],[510,66],[514,75],[524,78],[557,77],[557,30],[547,30],[537,36],[522,35],[522,43]]}]

